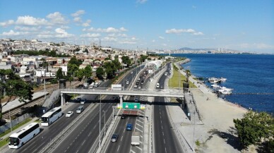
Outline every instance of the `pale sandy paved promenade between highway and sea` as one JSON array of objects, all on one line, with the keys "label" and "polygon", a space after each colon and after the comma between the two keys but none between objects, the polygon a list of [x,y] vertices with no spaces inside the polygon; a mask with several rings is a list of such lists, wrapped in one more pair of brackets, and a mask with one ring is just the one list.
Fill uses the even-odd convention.
[{"label": "pale sandy paved promenade between highway and sea", "polygon": [[[179,62],[175,65],[180,68]],[[184,70],[179,72],[186,75]],[[190,92],[202,123],[193,124],[179,106],[168,106],[174,126],[184,135],[185,146],[191,149],[194,147],[198,152],[240,152],[233,119],[242,118],[247,110],[216,97],[206,85],[194,80],[193,76],[189,80],[198,87],[191,88]],[[199,145],[193,145],[195,143]],[[248,152],[256,152],[256,149],[249,148]]]}]

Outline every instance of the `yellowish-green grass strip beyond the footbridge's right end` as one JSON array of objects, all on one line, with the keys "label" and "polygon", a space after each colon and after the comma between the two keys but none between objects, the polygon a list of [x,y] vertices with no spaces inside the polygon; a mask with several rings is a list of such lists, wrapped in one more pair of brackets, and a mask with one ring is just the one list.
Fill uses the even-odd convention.
[{"label": "yellowish-green grass strip beyond the footbridge's right end", "polygon": [[[179,73],[178,71],[174,70],[172,78],[169,79],[168,86],[183,87],[184,82],[186,82],[186,77],[182,75],[181,73]],[[196,88],[196,85],[194,85],[193,82],[189,82],[189,87]]]}]

